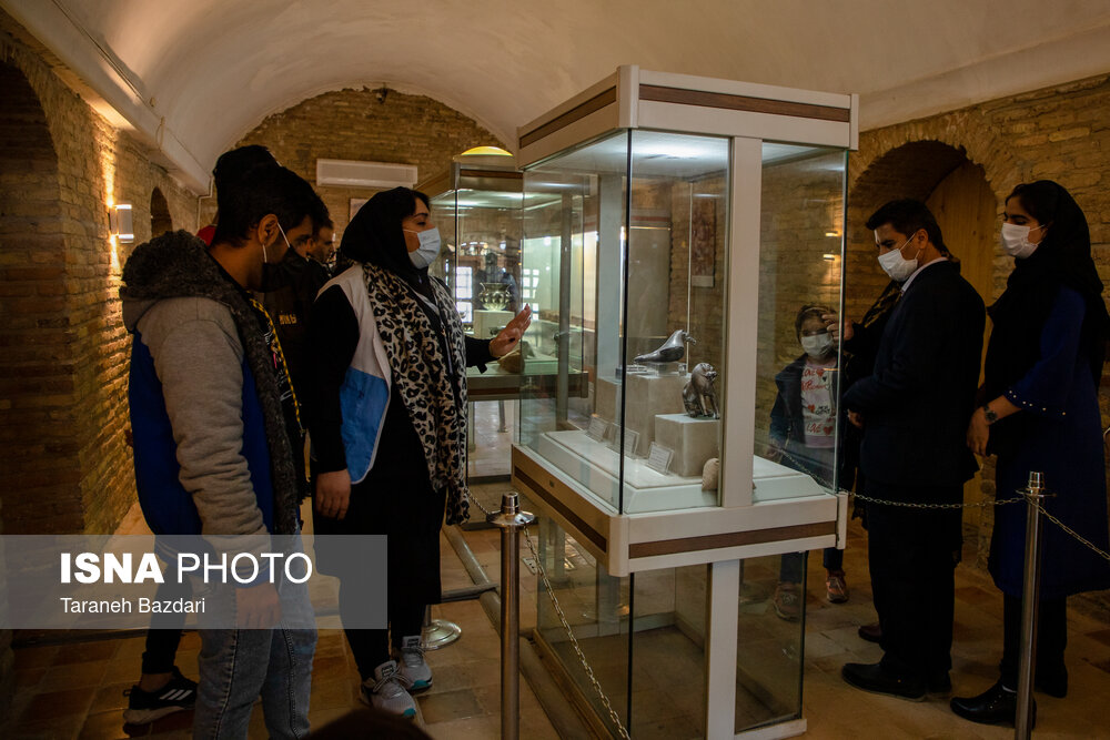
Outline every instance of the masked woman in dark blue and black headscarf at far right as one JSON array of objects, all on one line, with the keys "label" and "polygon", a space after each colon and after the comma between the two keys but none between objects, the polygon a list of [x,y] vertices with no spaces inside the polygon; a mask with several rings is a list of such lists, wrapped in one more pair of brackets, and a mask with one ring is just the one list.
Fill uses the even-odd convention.
[{"label": "masked woman in dark blue and black headscarf at far right", "polygon": [[[989,310],[982,405],[971,417],[968,445],[978,455],[998,455],[1001,498],[1015,497],[1030,470],[1042,472],[1054,494],[1046,510],[1106,550],[1098,387],[1110,316],[1087,219],[1057,183],[1021,184],[1006,199],[1001,240],[1015,266]],[[1015,720],[1026,508],[995,509],[989,567],[1003,599],[1001,678],[985,693],[951,701],[952,711],[976,722]],[[1066,599],[1110,587],[1110,566],[1051,523],[1042,547],[1035,688],[1063,697]]]}]

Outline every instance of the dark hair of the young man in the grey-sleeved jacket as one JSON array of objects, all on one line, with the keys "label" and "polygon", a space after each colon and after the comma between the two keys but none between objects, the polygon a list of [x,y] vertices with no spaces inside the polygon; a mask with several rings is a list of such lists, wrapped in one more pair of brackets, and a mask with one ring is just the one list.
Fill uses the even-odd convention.
[{"label": "dark hair of the young man in the grey-sleeved jacket", "polygon": [[218,191],[220,222],[212,243],[242,246],[250,230],[271,213],[287,233],[312,216],[320,196],[300,175],[276,164],[254,168]]}]

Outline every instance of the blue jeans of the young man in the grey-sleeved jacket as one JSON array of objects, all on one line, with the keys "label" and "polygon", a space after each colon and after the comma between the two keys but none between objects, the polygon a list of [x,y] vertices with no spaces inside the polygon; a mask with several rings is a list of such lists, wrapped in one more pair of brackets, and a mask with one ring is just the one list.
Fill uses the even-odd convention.
[{"label": "blue jeans of the young man in the grey-sleeved jacket", "polygon": [[[211,596],[215,589],[233,588],[193,581],[198,597]],[[286,627],[291,615],[299,612],[301,618],[294,624],[303,627],[304,615],[312,614],[309,588],[306,582],[283,581],[279,592],[282,620],[273,629],[205,629],[202,617],[198,658],[201,680],[193,713],[193,738],[246,738],[251,709],[259,696],[271,738],[309,737],[309,693],[316,631]]]}]

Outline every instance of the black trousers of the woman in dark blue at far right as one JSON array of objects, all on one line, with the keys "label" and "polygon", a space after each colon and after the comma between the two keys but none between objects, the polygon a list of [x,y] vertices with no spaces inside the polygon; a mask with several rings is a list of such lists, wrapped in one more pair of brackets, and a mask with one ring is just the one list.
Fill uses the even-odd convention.
[{"label": "black trousers of the woman in dark blue at far right", "polygon": [[[1037,606],[1037,682],[1067,686],[1063,649],[1068,646],[1068,600],[1041,599]],[[1018,688],[1021,659],[1021,598],[1002,596],[1002,683]]]}]

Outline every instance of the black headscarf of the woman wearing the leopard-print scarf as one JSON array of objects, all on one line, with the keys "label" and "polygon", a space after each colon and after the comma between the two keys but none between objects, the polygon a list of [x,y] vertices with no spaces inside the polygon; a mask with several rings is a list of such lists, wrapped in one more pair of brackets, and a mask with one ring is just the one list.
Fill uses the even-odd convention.
[{"label": "black headscarf of the woman wearing the leopard-print scarf", "polygon": [[343,230],[340,254],[387,270],[431,298],[427,267],[417,270],[413,265],[401,227],[401,222],[416,212],[416,199],[427,204],[427,195],[410,187],[376,193]]}]

